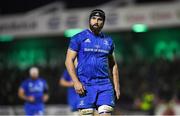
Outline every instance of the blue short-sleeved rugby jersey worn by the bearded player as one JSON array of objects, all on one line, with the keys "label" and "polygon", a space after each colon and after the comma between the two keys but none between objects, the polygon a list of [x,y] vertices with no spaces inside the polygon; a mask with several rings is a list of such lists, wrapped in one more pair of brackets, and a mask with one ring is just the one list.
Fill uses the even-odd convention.
[{"label": "blue short-sleeved rugby jersey worn by the bearded player", "polygon": [[71,38],[69,49],[78,53],[77,76],[83,84],[110,83],[108,56],[114,50],[111,37],[103,33],[97,36],[86,29]]}]

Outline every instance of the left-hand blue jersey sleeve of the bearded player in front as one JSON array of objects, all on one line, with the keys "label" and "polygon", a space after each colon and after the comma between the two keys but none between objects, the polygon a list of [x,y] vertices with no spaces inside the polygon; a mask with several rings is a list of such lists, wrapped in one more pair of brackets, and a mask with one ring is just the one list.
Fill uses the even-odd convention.
[{"label": "left-hand blue jersey sleeve of the bearded player in front", "polygon": [[80,49],[80,36],[75,35],[71,38],[69,43],[69,49],[78,52]]}]

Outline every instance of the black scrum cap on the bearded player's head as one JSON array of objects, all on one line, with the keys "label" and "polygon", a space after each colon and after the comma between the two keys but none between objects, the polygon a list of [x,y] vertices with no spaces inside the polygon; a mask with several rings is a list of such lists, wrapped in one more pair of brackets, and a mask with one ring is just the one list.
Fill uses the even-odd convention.
[{"label": "black scrum cap on the bearded player's head", "polygon": [[101,9],[95,9],[95,10],[92,10],[91,13],[90,13],[90,16],[89,16],[89,19],[91,19],[92,16],[99,16],[101,17],[104,21],[105,21],[105,12]]}]

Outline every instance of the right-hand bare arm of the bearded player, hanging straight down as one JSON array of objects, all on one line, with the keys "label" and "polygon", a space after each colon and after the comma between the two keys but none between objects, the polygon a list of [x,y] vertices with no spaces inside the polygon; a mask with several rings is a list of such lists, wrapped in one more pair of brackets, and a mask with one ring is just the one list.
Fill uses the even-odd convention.
[{"label": "right-hand bare arm of the bearded player, hanging straight down", "polygon": [[119,99],[120,97],[119,72],[118,72],[118,65],[116,63],[114,53],[110,54],[108,59],[109,59],[109,68],[113,77],[113,84],[116,92],[116,97],[117,99]]}]

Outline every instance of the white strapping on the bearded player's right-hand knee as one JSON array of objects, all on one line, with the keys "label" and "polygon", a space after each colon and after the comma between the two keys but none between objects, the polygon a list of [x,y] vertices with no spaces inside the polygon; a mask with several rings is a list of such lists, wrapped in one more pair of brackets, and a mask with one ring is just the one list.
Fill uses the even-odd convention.
[{"label": "white strapping on the bearded player's right-hand knee", "polygon": [[102,106],[99,106],[98,108],[99,114],[111,114],[112,111],[113,111],[113,107],[108,106],[108,105],[102,105]]}]

